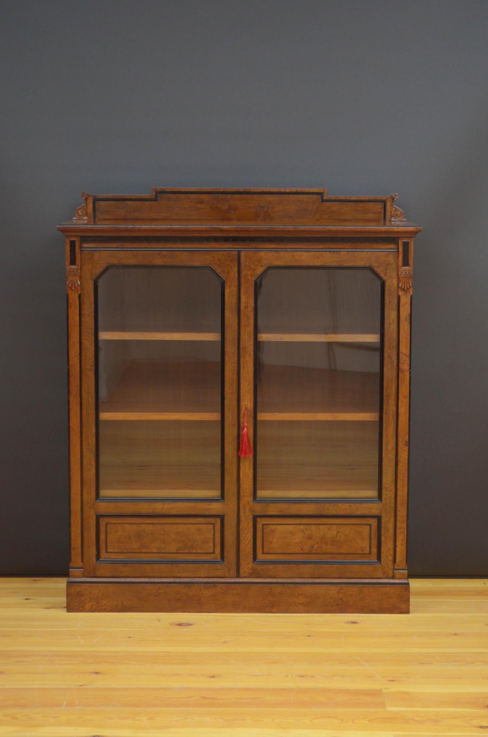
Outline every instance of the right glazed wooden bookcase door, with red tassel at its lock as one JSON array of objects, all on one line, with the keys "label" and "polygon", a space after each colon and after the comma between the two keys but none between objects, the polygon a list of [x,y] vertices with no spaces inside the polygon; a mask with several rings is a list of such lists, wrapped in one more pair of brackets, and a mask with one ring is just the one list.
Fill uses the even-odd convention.
[{"label": "right glazed wooden bookcase door, with red tassel at its lock", "polygon": [[397,254],[246,252],[240,573],[393,574]]}]

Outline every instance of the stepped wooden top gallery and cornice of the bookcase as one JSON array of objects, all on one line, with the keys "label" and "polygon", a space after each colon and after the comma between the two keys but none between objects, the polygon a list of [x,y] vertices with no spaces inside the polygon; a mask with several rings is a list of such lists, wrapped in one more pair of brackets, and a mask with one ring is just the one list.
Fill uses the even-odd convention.
[{"label": "stepped wooden top gallery and cornice of the bookcase", "polygon": [[[330,197],[327,189],[169,189],[150,195],[87,195],[69,236],[414,237],[397,195]],[[236,244],[238,247],[238,244]]]}]

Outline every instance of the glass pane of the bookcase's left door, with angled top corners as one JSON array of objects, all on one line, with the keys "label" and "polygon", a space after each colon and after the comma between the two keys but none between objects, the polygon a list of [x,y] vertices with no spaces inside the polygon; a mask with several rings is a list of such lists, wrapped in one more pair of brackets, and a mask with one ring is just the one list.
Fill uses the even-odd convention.
[{"label": "glass pane of the bookcase's left door, with angled top corners", "polygon": [[99,497],[221,496],[222,310],[209,268],[98,279]]}]

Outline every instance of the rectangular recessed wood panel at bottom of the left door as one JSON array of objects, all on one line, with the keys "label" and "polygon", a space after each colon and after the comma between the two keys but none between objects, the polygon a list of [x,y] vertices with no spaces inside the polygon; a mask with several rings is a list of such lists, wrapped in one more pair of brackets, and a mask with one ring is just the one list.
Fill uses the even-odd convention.
[{"label": "rectangular recessed wood panel at bottom of the left door", "polygon": [[221,559],[221,517],[99,517],[100,560]]}]

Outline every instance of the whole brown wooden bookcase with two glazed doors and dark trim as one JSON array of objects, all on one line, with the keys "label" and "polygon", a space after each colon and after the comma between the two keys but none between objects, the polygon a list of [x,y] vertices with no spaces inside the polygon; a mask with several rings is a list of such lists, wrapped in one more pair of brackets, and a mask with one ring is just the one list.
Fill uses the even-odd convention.
[{"label": "whole brown wooden bookcase with two glazed doors and dark trim", "polygon": [[83,200],[58,226],[69,611],[408,612],[420,228],[396,195]]}]

